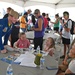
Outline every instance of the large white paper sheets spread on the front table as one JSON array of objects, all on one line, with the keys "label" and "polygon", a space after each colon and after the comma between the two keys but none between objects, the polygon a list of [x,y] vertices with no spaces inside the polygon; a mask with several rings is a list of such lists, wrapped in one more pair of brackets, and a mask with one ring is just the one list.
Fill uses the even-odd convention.
[{"label": "large white paper sheets spread on the front table", "polygon": [[21,62],[22,66],[36,67],[34,63],[35,55],[31,53],[21,54],[14,62]]}]

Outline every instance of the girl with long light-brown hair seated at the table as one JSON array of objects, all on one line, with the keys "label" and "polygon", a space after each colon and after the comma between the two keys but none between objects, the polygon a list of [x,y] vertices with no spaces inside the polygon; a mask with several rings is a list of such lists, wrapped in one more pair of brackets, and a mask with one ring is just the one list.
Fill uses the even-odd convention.
[{"label": "girl with long light-brown hair seated at the table", "polygon": [[52,56],[54,54],[54,50],[55,50],[54,39],[49,37],[45,41],[44,51],[49,52],[50,56]]}]

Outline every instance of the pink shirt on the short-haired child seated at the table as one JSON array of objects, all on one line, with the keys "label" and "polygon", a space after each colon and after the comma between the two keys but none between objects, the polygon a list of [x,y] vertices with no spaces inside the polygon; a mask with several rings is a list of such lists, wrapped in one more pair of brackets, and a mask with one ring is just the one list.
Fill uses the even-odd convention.
[{"label": "pink shirt on the short-haired child seated at the table", "polygon": [[18,39],[16,43],[18,48],[29,48],[29,45],[30,45],[30,42],[28,39],[25,39],[25,40]]}]

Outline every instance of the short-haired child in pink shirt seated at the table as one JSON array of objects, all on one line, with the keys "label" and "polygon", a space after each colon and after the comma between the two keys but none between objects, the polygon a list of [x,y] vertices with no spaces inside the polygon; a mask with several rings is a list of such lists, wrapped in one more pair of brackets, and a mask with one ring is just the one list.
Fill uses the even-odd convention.
[{"label": "short-haired child in pink shirt seated at the table", "polygon": [[30,42],[26,38],[25,33],[20,33],[19,39],[14,43],[15,48],[29,48]]}]

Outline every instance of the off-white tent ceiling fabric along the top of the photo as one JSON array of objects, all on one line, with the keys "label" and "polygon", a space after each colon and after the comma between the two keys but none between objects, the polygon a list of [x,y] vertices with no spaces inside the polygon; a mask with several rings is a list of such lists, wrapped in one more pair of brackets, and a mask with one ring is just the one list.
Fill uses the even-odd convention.
[{"label": "off-white tent ceiling fabric along the top of the photo", "polygon": [[9,2],[22,7],[33,5],[46,5],[53,8],[75,6],[75,0],[0,0],[0,2]]}]

